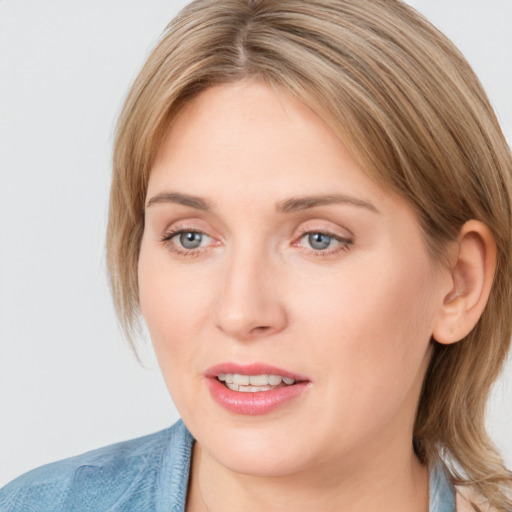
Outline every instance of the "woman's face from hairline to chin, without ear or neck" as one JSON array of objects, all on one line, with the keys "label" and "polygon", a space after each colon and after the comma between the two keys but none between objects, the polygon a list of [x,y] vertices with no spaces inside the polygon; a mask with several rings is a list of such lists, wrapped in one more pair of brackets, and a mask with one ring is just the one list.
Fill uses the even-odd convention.
[{"label": "woman's face from hairline to chin, without ear or neck", "polygon": [[447,280],[315,113],[257,81],[206,90],[157,155],[145,222],[142,313],[205,454],[276,476],[411,451]]}]

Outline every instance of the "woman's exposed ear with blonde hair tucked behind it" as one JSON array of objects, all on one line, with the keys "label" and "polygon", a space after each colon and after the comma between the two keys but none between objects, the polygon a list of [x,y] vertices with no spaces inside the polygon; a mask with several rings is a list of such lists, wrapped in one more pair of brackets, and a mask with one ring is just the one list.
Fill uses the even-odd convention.
[{"label": "woman's exposed ear with blonde hair tucked behind it", "polygon": [[450,262],[451,290],[443,298],[433,338],[442,344],[460,341],[482,315],[496,270],[496,242],[483,222],[470,220],[460,230]]}]

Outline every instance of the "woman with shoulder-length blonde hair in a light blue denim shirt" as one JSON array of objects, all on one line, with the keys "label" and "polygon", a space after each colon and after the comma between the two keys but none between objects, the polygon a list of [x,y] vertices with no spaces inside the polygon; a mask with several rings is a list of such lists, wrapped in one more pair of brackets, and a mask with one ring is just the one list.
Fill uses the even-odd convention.
[{"label": "woman with shoulder-length blonde hair in a light blue denim shirt", "polygon": [[108,229],[183,422],[0,510],[511,510],[484,428],[511,174],[478,80],[402,3],[193,2],[126,100]]}]

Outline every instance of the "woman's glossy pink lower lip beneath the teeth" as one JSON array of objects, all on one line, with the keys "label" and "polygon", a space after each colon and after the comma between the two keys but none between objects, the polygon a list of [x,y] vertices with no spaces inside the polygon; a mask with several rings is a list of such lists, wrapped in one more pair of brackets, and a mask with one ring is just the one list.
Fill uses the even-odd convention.
[{"label": "woman's glossy pink lower lip beneath the teeth", "polygon": [[309,387],[309,382],[298,382],[291,386],[251,393],[232,391],[216,378],[208,378],[206,382],[210,394],[220,406],[228,411],[249,416],[275,411],[302,395]]}]

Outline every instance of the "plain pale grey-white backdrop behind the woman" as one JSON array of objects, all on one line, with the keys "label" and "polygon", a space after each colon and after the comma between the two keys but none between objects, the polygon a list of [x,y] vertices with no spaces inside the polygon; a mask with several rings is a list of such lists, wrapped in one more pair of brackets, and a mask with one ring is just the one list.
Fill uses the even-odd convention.
[{"label": "plain pale grey-white backdrop behind the woman", "polygon": [[[512,139],[512,1],[411,0],[474,66]],[[176,0],[0,0],[0,486],[172,424],[146,344],[116,324],[104,263],[112,133]],[[512,466],[512,370],[492,435]]]}]

